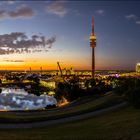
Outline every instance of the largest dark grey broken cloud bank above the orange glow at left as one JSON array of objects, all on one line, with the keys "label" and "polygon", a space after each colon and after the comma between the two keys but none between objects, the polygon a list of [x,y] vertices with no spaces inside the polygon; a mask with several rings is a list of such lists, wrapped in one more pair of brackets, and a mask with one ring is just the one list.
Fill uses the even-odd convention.
[{"label": "largest dark grey broken cloud bank above the orange glow at left", "polygon": [[55,36],[51,38],[42,35],[28,37],[22,32],[3,34],[0,35],[0,55],[48,51],[55,41]]}]

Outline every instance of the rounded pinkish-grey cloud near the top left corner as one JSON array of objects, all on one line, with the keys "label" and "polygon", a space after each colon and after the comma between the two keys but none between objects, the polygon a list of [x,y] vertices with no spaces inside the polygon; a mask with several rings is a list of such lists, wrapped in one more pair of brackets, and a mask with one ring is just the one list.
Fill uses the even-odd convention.
[{"label": "rounded pinkish-grey cloud near the top left corner", "polygon": [[11,18],[32,17],[34,15],[34,12],[32,8],[28,7],[27,5],[22,5],[15,11],[8,12],[8,14]]}]

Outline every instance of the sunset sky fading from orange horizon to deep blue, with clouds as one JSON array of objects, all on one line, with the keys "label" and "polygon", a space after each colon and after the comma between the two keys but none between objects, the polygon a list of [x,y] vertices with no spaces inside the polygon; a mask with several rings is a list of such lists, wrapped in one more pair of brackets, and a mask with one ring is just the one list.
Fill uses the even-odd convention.
[{"label": "sunset sky fading from orange horizon to deep blue, with clouds", "polygon": [[134,70],[140,62],[139,1],[0,1],[0,70]]}]

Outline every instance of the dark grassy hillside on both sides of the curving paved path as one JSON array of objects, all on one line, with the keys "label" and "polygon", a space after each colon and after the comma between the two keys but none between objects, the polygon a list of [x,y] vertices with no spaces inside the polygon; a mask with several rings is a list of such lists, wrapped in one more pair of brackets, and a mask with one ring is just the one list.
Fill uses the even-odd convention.
[{"label": "dark grassy hillside on both sides of the curving paved path", "polygon": [[[70,105],[68,108],[56,109],[52,112],[3,112],[0,120],[13,122],[37,121],[49,117],[66,117],[103,109],[120,102],[120,97],[110,95],[84,104]],[[140,139],[140,110],[131,106],[104,113],[82,121],[75,121],[60,125],[30,129],[0,129],[2,140],[139,140]]]}]

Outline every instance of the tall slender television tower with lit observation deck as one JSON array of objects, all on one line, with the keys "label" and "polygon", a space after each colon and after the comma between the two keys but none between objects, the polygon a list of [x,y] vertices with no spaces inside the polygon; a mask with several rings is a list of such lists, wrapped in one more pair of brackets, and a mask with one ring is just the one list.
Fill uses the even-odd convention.
[{"label": "tall slender television tower with lit observation deck", "polygon": [[90,34],[90,47],[92,48],[92,78],[95,77],[95,47],[96,47],[96,35],[94,34],[94,18],[92,17],[92,30]]}]

